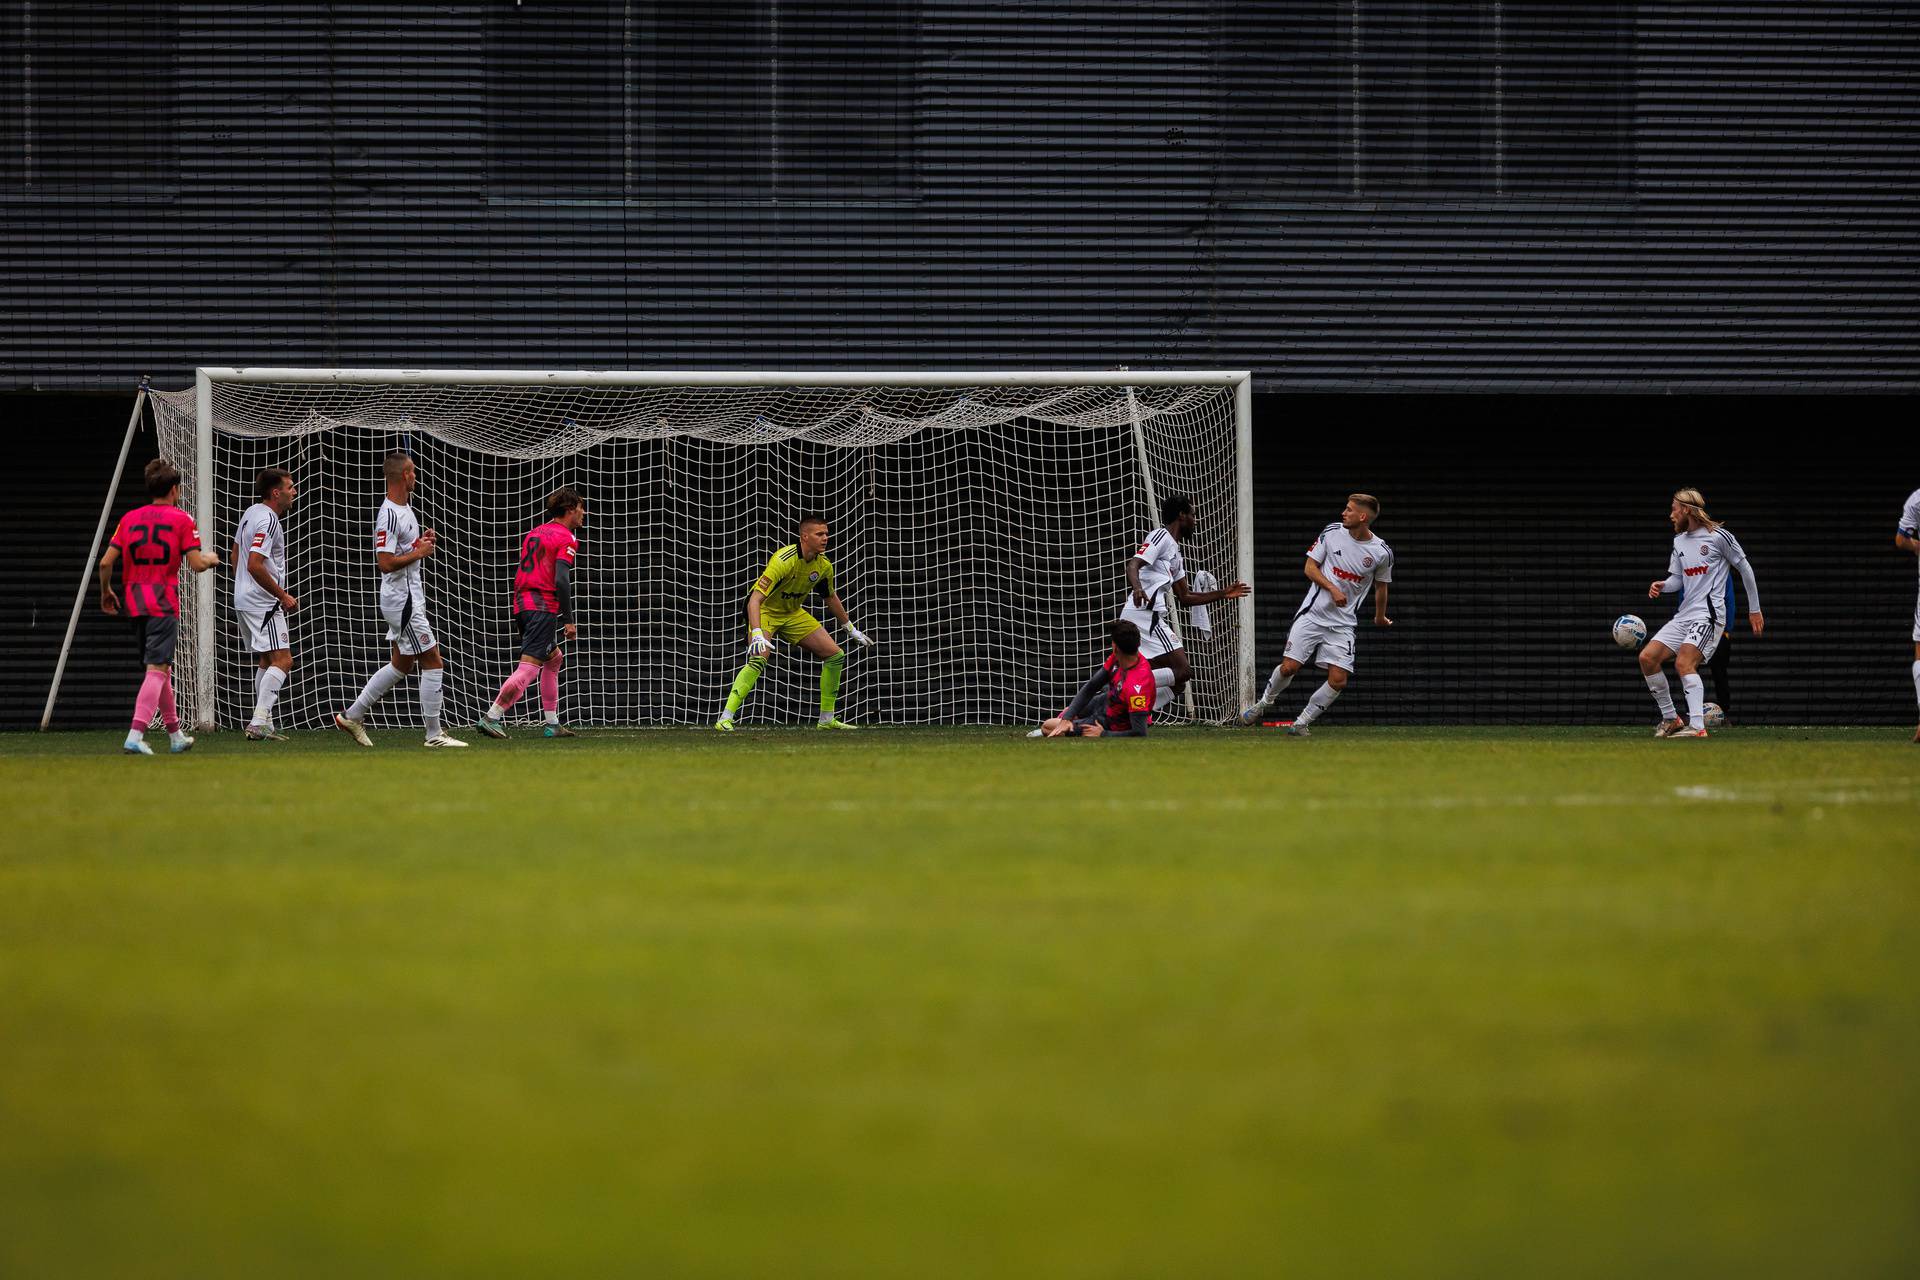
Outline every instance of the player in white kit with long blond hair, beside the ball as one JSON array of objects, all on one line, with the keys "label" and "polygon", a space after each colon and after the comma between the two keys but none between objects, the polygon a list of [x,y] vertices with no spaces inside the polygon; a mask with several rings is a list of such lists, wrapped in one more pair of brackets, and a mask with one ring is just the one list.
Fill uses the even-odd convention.
[{"label": "player in white kit with long blond hair, beside the ball", "polygon": [[[1667,518],[1674,526],[1674,551],[1667,578],[1647,585],[1647,599],[1678,591],[1680,608],[1640,651],[1640,674],[1661,708],[1661,727],[1653,737],[1707,737],[1707,683],[1699,677],[1699,666],[1713,660],[1713,651],[1732,626],[1724,603],[1728,572],[1740,570],[1740,583],[1747,591],[1747,624],[1755,635],[1766,629],[1766,618],[1761,614],[1761,589],[1753,581],[1747,553],[1740,539],[1707,514],[1707,499],[1699,489],[1674,493]],[[1668,658],[1686,689],[1686,720],[1674,714],[1672,691],[1667,687],[1663,668]]]}]

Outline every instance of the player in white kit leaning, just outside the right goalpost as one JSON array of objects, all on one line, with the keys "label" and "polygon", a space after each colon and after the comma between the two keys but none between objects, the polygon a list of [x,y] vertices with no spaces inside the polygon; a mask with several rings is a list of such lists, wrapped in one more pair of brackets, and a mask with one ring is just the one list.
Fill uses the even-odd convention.
[{"label": "player in white kit leaning, just outside the right goalpost", "polygon": [[1380,516],[1380,499],[1371,493],[1350,493],[1340,509],[1338,524],[1321,530],[1308,547],[1306,576],[1313,583],[1294,612],[1286,629],[1284,658],[1267,676],[1260,700],[1240,712],[1240,723],[1254,723],[1267,714],[1281,691],[1308,662],[1327,672],[1327,681],[1313,691],[1306,708],[1288,725],[1294,737],[1309,737],[1315,720],[1346,689],[1354,674],[1354,631],[1359,626],[1359,606],[1373,591],[1373,626],[1390,628],[1386,589],[1394,581],[1394,549],[1377,537],[1373,522]]}]

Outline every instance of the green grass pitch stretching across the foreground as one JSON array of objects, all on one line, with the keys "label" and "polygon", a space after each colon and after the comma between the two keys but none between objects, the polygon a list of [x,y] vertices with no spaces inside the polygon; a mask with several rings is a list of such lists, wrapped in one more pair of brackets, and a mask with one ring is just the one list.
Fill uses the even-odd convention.
[{"label": "green grass pitch stretching across the foreground", "polygon": [[0,1274],[1920,1267],[1897,731],[117,741],[0,737]]}]

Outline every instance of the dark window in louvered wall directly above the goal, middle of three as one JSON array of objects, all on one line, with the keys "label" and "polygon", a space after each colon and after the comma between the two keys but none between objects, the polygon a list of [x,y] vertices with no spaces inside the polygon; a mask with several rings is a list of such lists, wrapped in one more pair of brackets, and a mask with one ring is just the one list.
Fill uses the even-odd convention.
[{"label": "dark window in louvered wall directly above the goal, middle of three", "polygon": [[908,196],[914,10],[803,0],[490,10],[493,192]]}]

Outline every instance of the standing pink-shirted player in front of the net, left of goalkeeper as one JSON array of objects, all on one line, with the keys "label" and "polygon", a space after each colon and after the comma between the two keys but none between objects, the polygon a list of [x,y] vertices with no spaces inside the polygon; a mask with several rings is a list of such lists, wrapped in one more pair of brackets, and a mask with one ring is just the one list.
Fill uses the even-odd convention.
[{"label": "standing pink-shirted player in front of the net, left of goalkeeper", "polygon": [[501,720],[520,700],[526,687],[540,681],[540,708],[545,712],[547,737],[574,737],[561,723],[561,666],[566,652],[559,635],[574,639],[574,553],[580,549],[580,526],[586,524],[588,503],[574,487],[547,495],[547,522],[520,539],[520,566],[513,574],[513,618],[520,628],[520,664],[499,687],[493,706],[486,708],[474,727],[488,737],[507,737]]}]

